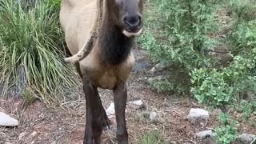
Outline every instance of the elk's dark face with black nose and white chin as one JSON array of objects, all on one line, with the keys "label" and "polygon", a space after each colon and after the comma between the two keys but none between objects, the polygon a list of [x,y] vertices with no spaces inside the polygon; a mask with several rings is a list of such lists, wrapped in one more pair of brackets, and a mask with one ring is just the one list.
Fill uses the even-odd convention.
[{"label": "elk's dark face with black nose and white chin", "polygon": [[138,36],[142,32],[143,0],[110,1],[110,17],[127,37]]}]

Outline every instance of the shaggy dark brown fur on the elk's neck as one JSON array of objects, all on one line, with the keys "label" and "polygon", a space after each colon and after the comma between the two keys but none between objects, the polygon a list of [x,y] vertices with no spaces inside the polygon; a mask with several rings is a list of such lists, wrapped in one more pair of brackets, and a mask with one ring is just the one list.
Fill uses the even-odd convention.
[{"label": "shaggy dark brown fur on the elk's neck", "polygon": [[122,30],[114,23],[106,6],[103,6],[103,18],[98,42],[102,52],[102,62],[111,65],[118,65],[125,61],[130,54],[130,49],[134,44],[134,37],[126,37]]}]

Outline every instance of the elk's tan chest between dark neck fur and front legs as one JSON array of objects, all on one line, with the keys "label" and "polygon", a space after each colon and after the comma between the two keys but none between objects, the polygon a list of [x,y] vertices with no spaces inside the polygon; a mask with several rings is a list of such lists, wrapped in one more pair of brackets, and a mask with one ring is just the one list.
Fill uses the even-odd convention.
[{"label": "elk's tan chest between dark neck fur and front legs", "polygon": [[134,55],[130,56],[121,64],[115,66],[103,65],[99,57],[89,54],[80,62],[82,74],[90,77],[94,86],[102,89],[113,90],[118,82],[126,82],[132,67],[134,66]]}]

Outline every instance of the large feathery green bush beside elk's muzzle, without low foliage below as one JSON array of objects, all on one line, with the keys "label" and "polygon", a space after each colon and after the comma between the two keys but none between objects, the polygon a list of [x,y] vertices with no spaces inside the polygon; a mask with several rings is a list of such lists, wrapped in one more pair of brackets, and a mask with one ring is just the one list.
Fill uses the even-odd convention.
[{"label": "large feathery green bush beside elk's muzzle, without low foliage below", "polygon": [[[149,21],[158,23],[164,32],[157,30],[158,33],[152,36],[147,31],[156,28],[150,27],[142,35],[140,42],[149,50],[150,55],[157,61],[179,63],[187,70],[211,66],[210,59],[204,54],[214,46],[213,39],[208,36],[217,28],[213,14],[214,3],[202,0],[159,0],[152,3],[159,7],[158,18]],[[161,39],[161,42],[156,39]]]}]

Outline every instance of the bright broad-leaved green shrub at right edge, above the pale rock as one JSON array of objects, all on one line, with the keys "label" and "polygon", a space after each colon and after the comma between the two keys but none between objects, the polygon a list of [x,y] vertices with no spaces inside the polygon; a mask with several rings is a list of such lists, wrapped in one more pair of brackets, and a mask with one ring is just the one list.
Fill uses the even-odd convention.
[{"label": "bright broad-leaved green shrub at right edge, above the pale rock", "polygon": [[[253,26],[253,27],[251,27]],[[239,30],[239,29],[238,29]],[[243,39],[243,50],[234,57],[230,66],[221,70],[196,69],[192,71],[192,94],[199,102],[221,108],[226,104],[238,103],[238,92],[255,91],[256,33],[254,22],[243,25],[245,32],[239,33]]]}]

